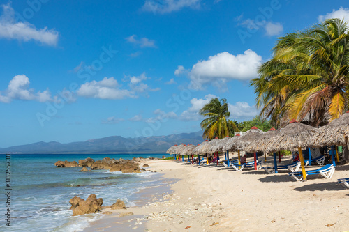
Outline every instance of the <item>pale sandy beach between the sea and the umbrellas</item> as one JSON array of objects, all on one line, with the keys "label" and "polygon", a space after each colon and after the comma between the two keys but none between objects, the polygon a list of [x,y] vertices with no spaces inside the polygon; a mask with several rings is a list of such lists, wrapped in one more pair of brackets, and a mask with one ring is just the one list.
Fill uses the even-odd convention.
[{"label": "pale sandy beach between the sea and the umbrellas", "polygon": [[237,172],[173,160],[147,164],[178,180],[172,192],[162,190],[142,207],[111,210],[84,231],[349,231],[349,189],[336,183],[349,177],[348,164],[336,167],[332,179],[309,176],[307,182],[292,180],[287,171]]}]

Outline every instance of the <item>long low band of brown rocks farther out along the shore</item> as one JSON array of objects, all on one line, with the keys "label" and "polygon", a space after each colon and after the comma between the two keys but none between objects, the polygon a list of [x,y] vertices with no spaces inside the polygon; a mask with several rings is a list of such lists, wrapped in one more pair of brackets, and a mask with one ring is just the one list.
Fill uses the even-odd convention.
[{"label": "long low band of brown rocks farther out along the shore", "polygon": [[[57,167],[83,167],[81,171],[89,171],[90,169],[107,169],[109,171],[121,171],[122,173],[140,173],[142,167],[140,167],[140,162],[147,162],[149,160],[158,160],[158,158],[133,158],[132,160],[124,160],[120,158],[119,160],[110,159],[110,157],[105,157],[103,160],[94,160],[91,158],[86,158],[84,160],[76,161],[57,161],[54,165]],[[144,164],[143,167],[148,167],[149,165]]]}]

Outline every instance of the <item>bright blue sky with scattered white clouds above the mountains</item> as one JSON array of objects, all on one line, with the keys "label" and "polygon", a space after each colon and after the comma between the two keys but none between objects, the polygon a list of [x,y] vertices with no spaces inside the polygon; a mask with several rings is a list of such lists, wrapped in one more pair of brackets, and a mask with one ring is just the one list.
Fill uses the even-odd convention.
[{"label": "bright blue sky with scattered white clouds above the mountains", "polygon": [[253,118],[249,81],[279,36],[349,19],[345,1],[0,1],[0,147],[200,130],[227,98]]}]

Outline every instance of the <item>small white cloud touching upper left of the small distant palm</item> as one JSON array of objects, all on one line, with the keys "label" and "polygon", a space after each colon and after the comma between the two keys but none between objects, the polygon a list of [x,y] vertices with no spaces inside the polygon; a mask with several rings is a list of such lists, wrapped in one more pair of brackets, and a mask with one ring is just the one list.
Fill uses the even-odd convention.
[{"label": "small white cloud touching upper left of the small distant palm", "polygon": [[205,95],[204,98],[193,98],[191,99],[191,107],[187,109],[186,111],[183,111],[179,118],[183,121],[198,121],[202,119],[202,116],[200,116],[199,111],[204,105],[209,103],[209,101],[212,98],[218,98],[215,95],[208,94]]}]

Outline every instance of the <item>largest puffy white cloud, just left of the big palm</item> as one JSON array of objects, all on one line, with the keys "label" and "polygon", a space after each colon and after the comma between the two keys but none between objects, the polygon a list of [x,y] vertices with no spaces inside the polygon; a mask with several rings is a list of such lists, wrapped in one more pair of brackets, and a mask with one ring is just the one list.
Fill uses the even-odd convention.
[{"label": "largest puffy white cloud, just left of the big palm", "polygon": [[214,84],[224,87],[225,82],[232,79],[241,81],[258,77],[258,67],[262,64],[262,56],[248,49],[244,54],[232,55],[221,52],[209,56],[208,60],[198,61],[188,77],[191,79],[191,88],[202,89],[203,84]]}]

